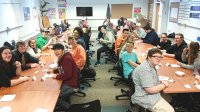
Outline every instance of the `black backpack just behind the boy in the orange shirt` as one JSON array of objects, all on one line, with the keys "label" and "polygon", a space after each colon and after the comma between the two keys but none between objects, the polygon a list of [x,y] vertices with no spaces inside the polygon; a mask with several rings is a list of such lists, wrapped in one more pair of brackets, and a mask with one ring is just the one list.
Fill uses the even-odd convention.
[{"label": "black backpack just behind the boy in the orange shirt", "polygon": [[83,78],[94,78],[96,76],[96,71],[92,67],[84,67],[81,70],[81,74]]}]

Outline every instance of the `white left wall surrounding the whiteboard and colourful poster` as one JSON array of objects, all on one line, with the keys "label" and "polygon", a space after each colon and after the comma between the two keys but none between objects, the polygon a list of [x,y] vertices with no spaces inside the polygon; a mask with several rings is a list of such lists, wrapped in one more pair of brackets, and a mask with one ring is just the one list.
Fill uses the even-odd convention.
[{"label": "white left wall surrounding the whiteboard and colourful poster", "polygon": [[[15,28],[7,32],[0,33],[0,46],[3,45],[5,41],[11,42],[11,40],[26,40],[33,35],[39,33],[39,21],[38,21],[38,12],[39,12],[39,0],[0,0],[0,3],[20,3],[23,11],[23,7],[30,7],[31,19],[24,21],[22,17],[22,27]],[[33,9],[34,8],[34,9]],[[3,15],[1,15],[3,16]],[[22,12],[22,16],[23,12]],[[15,19],[15,18],[13,18]],[[7,21],[0,21],[7,22]],[[3,24],[3,23],[1,23]]]}]

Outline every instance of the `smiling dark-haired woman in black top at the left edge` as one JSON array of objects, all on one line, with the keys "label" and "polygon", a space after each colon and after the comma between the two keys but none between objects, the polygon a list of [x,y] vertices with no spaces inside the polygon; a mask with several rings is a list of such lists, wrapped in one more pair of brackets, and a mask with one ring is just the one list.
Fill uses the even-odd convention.
[{"label": "smiling dark-haired woman in black top at the left edge", "polygon": [[12,52],[8,47],[0,48],[0,87],[10,87],[28,81],[29,77],[20,77],[12,79],[14,76],[19,76],[21,73],[21,63],[14,61]]}]

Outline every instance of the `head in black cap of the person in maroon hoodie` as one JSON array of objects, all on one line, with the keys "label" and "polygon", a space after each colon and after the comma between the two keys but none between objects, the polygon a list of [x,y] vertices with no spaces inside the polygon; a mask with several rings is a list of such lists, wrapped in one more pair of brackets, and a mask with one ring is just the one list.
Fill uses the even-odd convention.
[{"label": "head in black cap of the person in maroon hoodie", "polygon": [[58,57],[58,59],[61,59],[65,53],[64,46],[61,43],[54,44],[52,49],[54,50],[54,54],[56,55],[56,57]]}]

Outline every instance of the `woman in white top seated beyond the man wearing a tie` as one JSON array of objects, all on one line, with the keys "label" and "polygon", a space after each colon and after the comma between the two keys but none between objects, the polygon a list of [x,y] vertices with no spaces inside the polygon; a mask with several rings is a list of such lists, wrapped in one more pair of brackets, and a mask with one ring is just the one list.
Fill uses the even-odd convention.
[{"label": "woman in white top seated beyond the man wearing a tie", "polygon": [[30,39],[28,41],[28,48],[26,50],[31,56],[39,58],[41,56],[41,50],[36,47],[36,40]]}]

